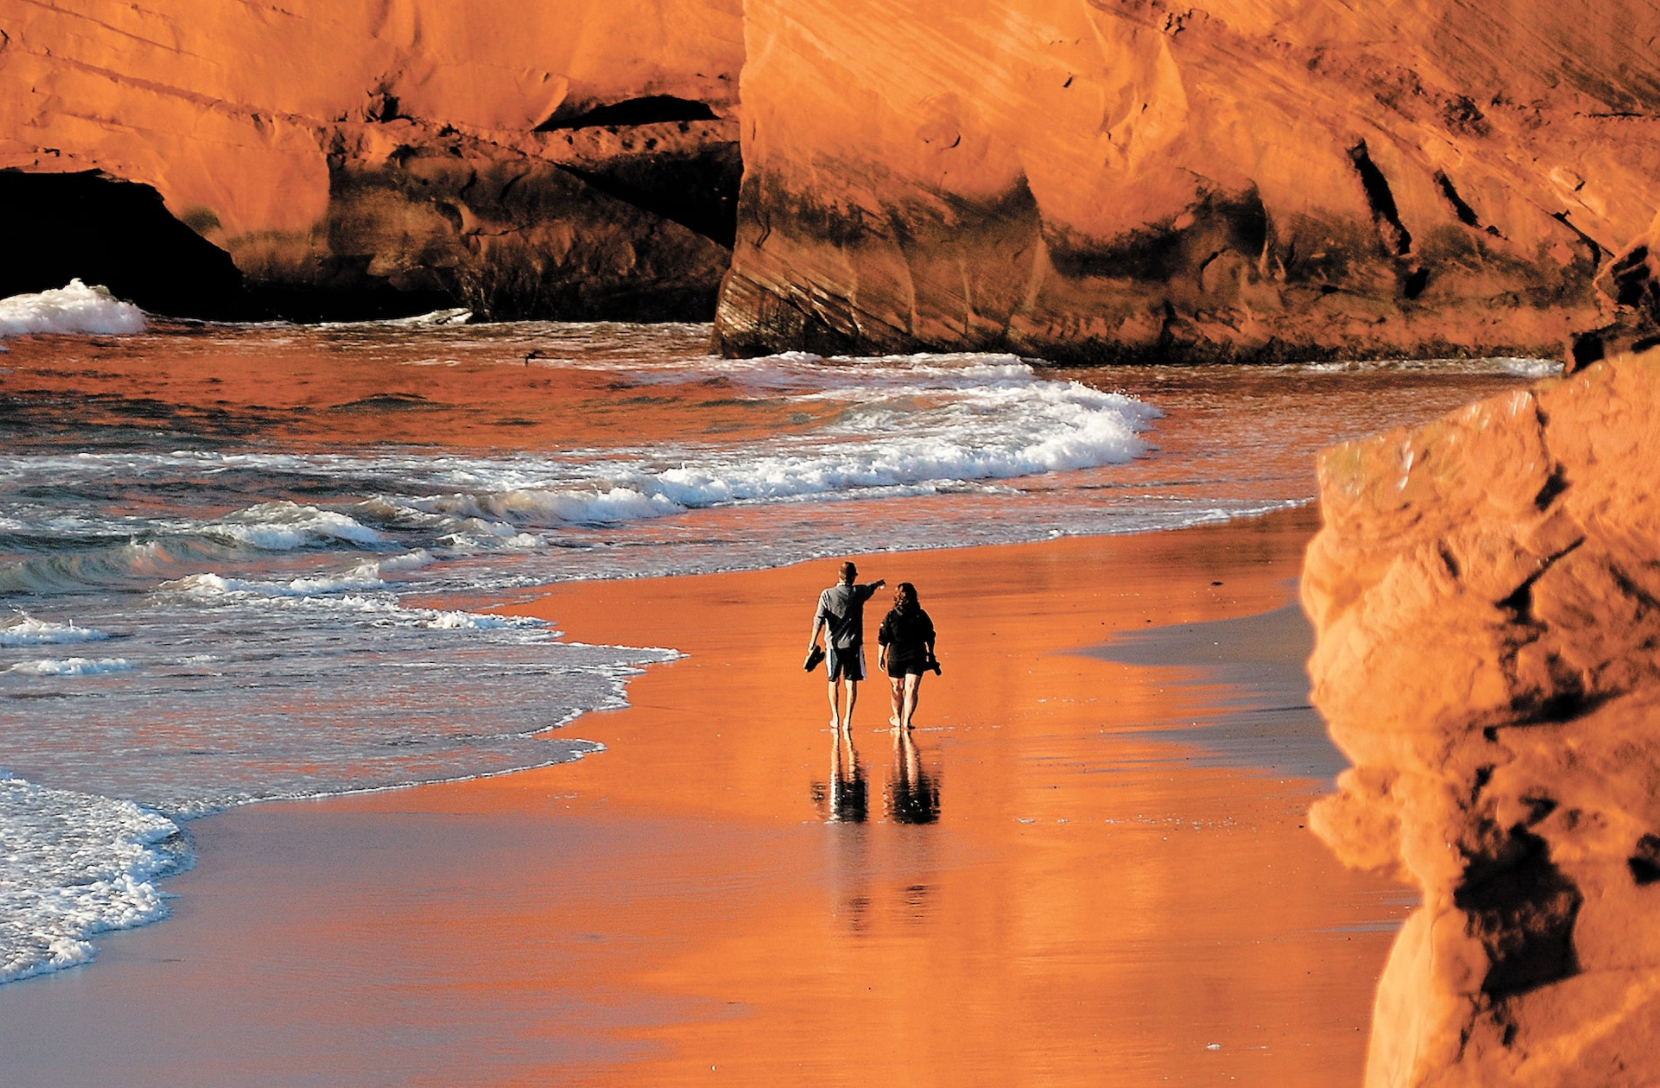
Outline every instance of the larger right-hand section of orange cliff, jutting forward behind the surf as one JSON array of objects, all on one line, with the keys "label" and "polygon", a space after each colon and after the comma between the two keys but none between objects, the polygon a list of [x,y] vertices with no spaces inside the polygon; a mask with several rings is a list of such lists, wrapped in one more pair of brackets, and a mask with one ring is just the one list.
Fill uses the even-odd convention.
[{"label": "larger right-hand section of orange cliff, jutting forward behind the surf", "polygon": [[1653,216],[1637,0],[749,0],[727,352],[1555,354]]}]

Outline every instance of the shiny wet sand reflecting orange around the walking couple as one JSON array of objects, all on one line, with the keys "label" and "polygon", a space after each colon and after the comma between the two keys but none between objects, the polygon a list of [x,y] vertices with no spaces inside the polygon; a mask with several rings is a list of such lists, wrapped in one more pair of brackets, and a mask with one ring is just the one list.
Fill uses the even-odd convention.
[{"label": "shiny wet sand reflecting orange around the walking couple", "polygon": [[1150,643],[1122,633],[1283,608],[1311,530],[862,558],[918,585],[945,676],[910,739],[865,684],[852,751],[800,671],[830,563],[513,605],[687,656],[568,728],[608,747],[578,764],[199,821],[173,920],[0,987],[8,1076],[1360,1083],[1409,899],[1303,831],[1325,782],[1205,742],[1283,704],[1306,635],[1124,659]]}]

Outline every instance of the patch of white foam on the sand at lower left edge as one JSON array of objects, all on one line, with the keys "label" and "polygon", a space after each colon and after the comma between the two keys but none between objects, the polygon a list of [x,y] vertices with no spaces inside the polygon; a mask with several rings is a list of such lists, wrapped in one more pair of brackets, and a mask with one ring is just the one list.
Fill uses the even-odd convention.
[{"label": "patch of white foam on the sand at lower left edge", "polygon": [[178,826],[131,801],[0,777],[0,983],[93,958],[91,937],[156,922],[189,864]]}]

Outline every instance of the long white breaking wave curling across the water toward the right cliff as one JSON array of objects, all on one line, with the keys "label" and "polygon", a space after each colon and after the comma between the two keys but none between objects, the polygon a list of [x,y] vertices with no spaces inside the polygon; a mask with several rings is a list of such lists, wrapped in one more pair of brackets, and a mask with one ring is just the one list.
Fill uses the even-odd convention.
[{"label": "long white breaking wave curling across the water toward the right cliff", "polygon": [[[1014,355],[827,360],[792,352],[739,360],[696,357],[642,364],[636,359],[629,367],[629,382],[720,375],[742,385],[759,404],[782,392],[792,400],[817,399],[833,407],[803,430],[546,455],[400,450],[372,455],[53,453],[33,458],[27,470],[50,473],[65,493],[98,492],[110,487],[110,478],[123,475],[174,490],[181,482],[211,482],[227,493],[247,480],[279,495],[279,488],[322,478],[342,498],[337,505],[279,498],[209,522],[173,518],[133,525],[146,530],[146,546],[161,550],[163,561],[154,575],[163,580],[178,578],[186,573],[179,566],[191,563],[198,570],[224,570],[221,560],[226,558],[259,561],[256,555],[166,561],[188,550],[193,538],[269,553],[340,545],[354,550],[403,545],[530,551],[549,545],[540,530],[627,525],[722,505],[926,495],[1099,468],[1145,453],[1144,434],[1162,415],[1134,397],[1044,379]],[[355,500],[347,502],[354,490]],[[85,535],[98,528],[60,525],[58,515],[40,510],[38,522],[17,532],[28,533],[30,540],[48,540],[55,533]],[[133,518],[124,517],[103,530],[120,532],[131,523]],[[0,586],[17,581],[18,590],[28,591],[33,585],[45,590],[76,581],[110,585],[141,556],[110,553],[105,560],[108,571],[91,558],[86,570],[73,571],[0,568]],[[330,591],[320,583],[292,588],[302,595]],[[378,586],[364,580],[355,588]]]}]

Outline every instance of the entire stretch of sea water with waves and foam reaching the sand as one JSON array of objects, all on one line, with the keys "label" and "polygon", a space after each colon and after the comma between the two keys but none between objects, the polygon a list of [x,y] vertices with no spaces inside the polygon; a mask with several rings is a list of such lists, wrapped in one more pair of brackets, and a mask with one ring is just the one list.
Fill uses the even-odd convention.
[{"label": "entire stretch of sea water with waves and foam reaching the sand", "polygon": [[168,324],[78,282],[0,337],[0,982],[164,917],[196,816],[594,754],[579,716],[676,649],[510,615],[536,586],[1250,517],[1321,445],[1550,369],[727,360],[707,326]]}]

